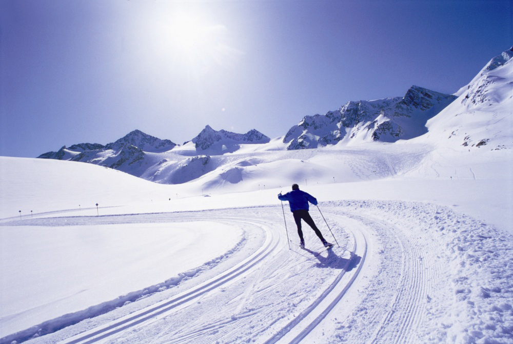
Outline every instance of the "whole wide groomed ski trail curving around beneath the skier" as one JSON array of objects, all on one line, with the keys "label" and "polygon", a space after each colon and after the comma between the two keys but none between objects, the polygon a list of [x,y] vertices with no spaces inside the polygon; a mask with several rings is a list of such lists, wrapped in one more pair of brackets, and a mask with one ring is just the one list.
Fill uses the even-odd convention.
[{"label": "whole wide groomed ski trail curving around beneath the skier", "polygon": [[[19,221],[63,226],[209,220],[239,224],[248,233],[242,244],[247,247],[212,268],[208,279],[193,277],[184,282],[185,289],[129,314],[121,307],[28,342],[445,341],[440,318],[455,311],[437,299],[453,297],[453,290],[441,241],[428,229],[442,217],[455,224],[473,220],[420,203],[340,201],[321,207],[340,247],[317,257],[295,245],[289,249],[281,207]],[[320,215],[310,212],[325,237],[332,238]],[[290,215],[287,221],[290,239],[297,239]],[[442,230],[449,228],[446,224]],[[305,226],[304,233],[307,247],[321,249],[313,231]]]}]

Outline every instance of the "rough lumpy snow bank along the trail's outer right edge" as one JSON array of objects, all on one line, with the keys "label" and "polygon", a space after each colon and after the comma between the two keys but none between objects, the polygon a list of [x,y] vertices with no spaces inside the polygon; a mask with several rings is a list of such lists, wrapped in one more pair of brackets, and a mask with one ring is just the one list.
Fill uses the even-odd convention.
[{"label": "rough lumpy snow bank along the trail's outer right edge", "polygon": [[[330,205],[379,218],[385,227],[391,224],[390,229],[399,230],[397,235],[433,241],[431,252],[426,253],[430,256],[417,259],[424,264],[441,261],[444,270],[435,281],[440,293],[424,295],[428,311],[416,342],[513,342],[513,235],[433,204],[367,200]],[[451,293],[445,294],[447,283]],[[383,306],[372,305],[370,300],[366,308]],[[365,320],[358,312],[352,316]],[[339,334],[339,338],[345,335],[349,334]]]}]

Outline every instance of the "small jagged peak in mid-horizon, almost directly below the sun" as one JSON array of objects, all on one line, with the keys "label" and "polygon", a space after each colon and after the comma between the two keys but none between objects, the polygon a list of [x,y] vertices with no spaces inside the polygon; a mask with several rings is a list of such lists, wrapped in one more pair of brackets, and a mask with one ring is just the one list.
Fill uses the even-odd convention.
[{"label": "small jagged peak in mid-horizon, almost directly below the sun", "polygon": [[270,140],[269,137],[255,129],[245,134],[237,134],[226,130],[216,131],[207,125],[191,141],[195,144],[196,151],[227,153],[238,150],[241,144],[266,144]]}]

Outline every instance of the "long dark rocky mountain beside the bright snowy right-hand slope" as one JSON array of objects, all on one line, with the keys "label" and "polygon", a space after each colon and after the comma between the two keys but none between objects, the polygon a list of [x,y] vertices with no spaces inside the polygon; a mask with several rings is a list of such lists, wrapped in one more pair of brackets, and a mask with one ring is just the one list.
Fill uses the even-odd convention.
[{"label": "long dark rocky mountain beside the bright snowy right-hand slope", "polygon": [[287,149],[318,148],[366,141],[395,142],[427,132],[427,120],[456,96],[412,86],[404,97],[348,102],[338,111],[305,116],[289,129]]}]

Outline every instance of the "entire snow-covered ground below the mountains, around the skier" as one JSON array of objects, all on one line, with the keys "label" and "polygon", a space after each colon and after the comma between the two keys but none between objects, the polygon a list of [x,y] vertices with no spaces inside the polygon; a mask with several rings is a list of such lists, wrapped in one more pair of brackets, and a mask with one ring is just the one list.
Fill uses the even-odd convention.
[{"label": "entire snow-covered ground below the mountains, around the skier", "polygon": [[[510,150],[218,158],[224,171],[160,185],[1,157],[1,342],[513,342]],[[297,246],[286,203],[285,231],[293,181],[331,251],[308,228],[311,252]]]}]

